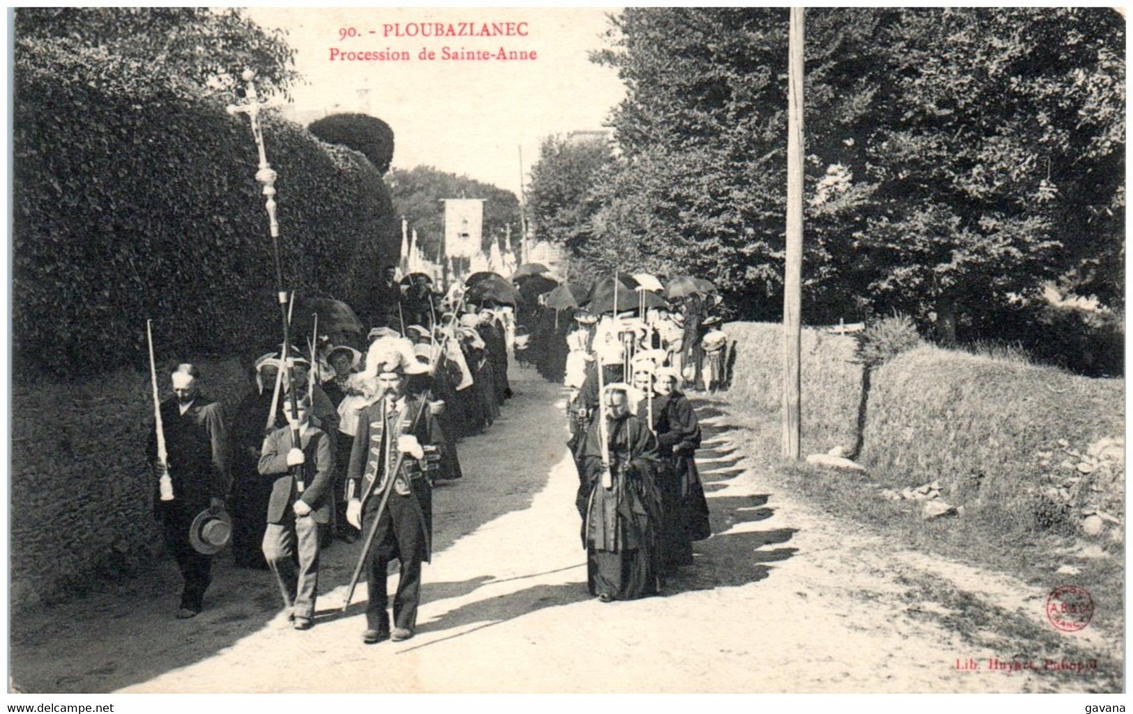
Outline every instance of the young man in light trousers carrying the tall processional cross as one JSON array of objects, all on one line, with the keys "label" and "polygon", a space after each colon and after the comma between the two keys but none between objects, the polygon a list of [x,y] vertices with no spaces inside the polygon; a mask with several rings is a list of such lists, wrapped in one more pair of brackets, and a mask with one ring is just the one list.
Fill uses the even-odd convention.
[{"label": "young man in light trousers carrying the tall processional cross", "polygon": [[[259,473],[275,476],[263,549],[288,619],[295,629],[305,630],[315,618],[318,526],[331,519],[334,449],[330,436],[310,423],[309,398],[300,397],[295,408],[296,415],[287,410],[289,425],[267,435],[261,449]],[[299,432],[298,446],[293,430]]]}]

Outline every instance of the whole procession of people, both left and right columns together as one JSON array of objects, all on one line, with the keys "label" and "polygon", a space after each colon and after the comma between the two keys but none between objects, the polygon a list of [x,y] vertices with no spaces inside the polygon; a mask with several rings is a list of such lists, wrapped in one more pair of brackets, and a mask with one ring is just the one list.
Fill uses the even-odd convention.
[{"label": "whole procession of people, both left and right columns together", "polygon": [[398,279],[387,268],[358,311],[365,337],[340,324],[316,329],[306,350],[284,343],[259,354],[230,419],[202,393],[195,365],[172,368],[147,453],[155,515],[184,579],[177,617],[201,612],[212,557],[231,542],[235,565],[270,570],[288,620],[308,629],[321,551],[360,541],[363,640],[412,637],[433,487],[462,476],[457,441],[491,427],[512,396],[513,351],[538,355],[540,371],[570,390],[590,593],[604,602],[655,594],[691,565],[691,543],[709,525],[695,463],[700,428],[681,389],[723,379],[726,337],[708,315],[716,301],[637,293],[633,308],[615,287],[608,309],[598,298],[583,301],[593,312],[563,316],[540,307],[546,293],[525,300],[519,289],[477,274],[441,292],[428,276]]}]

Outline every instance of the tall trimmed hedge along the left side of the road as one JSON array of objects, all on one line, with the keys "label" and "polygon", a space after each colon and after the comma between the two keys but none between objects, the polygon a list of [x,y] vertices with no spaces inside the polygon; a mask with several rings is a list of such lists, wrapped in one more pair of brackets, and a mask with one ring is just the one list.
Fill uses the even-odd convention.
[{"label": "tall trimmed hedge along the left side of the road", "polygon": [[[245,115],[97,51],[19,43],[14,103],[17,376],[231,354],[279,341],[267,217]],[[360,154],[263,115],[284,286],[359,303],[400,234]]]}]

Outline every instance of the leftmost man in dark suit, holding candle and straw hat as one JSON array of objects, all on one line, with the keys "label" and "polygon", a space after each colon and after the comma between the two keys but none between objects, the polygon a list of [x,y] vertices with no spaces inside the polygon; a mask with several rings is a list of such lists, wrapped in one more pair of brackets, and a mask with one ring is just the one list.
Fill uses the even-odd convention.
[{"label": "leftmost man in dark suit, holding candle and straw hat", "polygon": [[[212,556],[197,552],[189,542],[193,519],[206,508],[223,509],[231,487],[224,410],[201,394],[198,379],[193,364],[178,364],[172,371],[173,396],[160,407],[165,464],[157,458],[155,428],[150,430],[147,447],[154,472],[154,517],[185,582],[177,611],[181,620],[201,612],[212,582]],[[172,492],[163,497],[160,483],[164,476]]]}]

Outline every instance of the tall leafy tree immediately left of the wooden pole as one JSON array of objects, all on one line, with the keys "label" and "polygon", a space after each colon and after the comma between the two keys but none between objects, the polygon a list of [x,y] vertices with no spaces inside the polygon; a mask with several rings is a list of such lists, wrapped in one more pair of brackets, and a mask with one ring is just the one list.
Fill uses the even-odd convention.
[{"label": "tall leafy tree immediately left of the wooden pole", "polygon": [[[595,57],[629,89],[612,124],[631,175],[596,189],[594,242],[709,277],[749,317],[769,315],[782,282],[786,28],[782,9],[631,8]],[[840,100],[825,96],[816,113]]]}]

